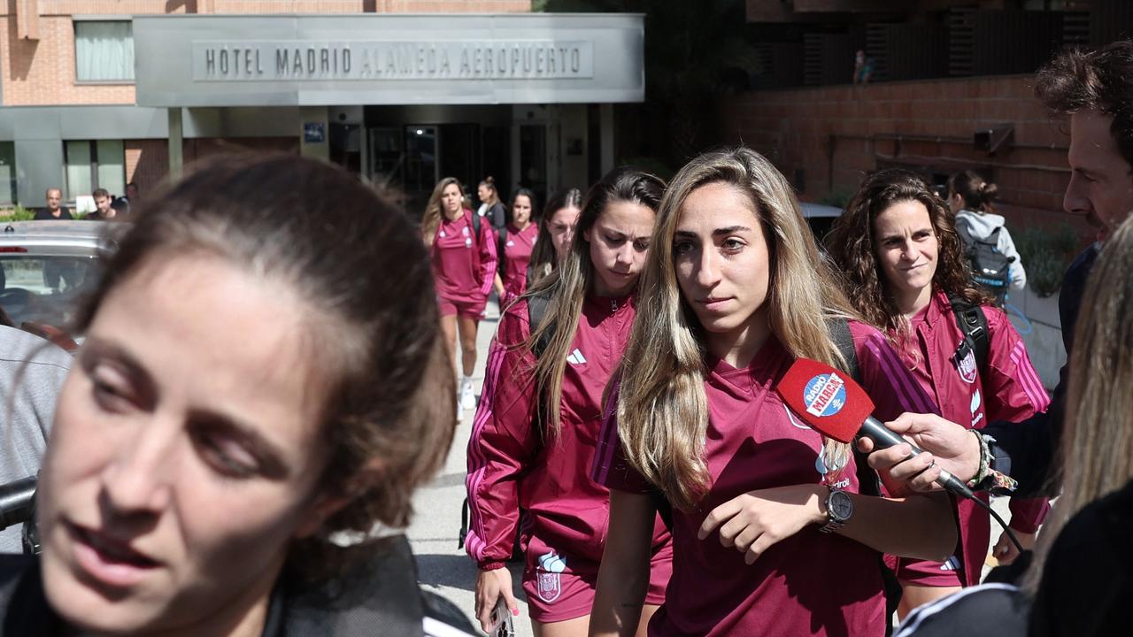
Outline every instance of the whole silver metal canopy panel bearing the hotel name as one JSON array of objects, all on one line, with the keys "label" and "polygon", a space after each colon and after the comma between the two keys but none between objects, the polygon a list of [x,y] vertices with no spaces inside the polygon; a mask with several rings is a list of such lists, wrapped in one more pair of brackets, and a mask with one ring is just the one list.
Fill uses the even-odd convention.
[{"label": "whole silver metal canopy panel bearing the hotel name", "polygon": [[134,39],[147,107],[645,99],[636,14],[135,16]]}]

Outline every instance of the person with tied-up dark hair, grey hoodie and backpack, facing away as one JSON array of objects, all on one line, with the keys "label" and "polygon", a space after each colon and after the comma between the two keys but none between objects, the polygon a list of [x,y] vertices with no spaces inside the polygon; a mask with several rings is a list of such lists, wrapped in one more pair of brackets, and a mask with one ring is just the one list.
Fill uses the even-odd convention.
[{"label": "person with tied-up dark hair, grey hoodie and backpack, facing away", "polygon": [[995,214],[993,202],[998,192],[995,184],[985,181],[971,170],[957,172],[948,179],[948,210],[956,216],[956,230],[966,233],[972,241],[990,243],[995,237],[996,250],[1011,262],[1011,289],[1022,290],[1026,287],[1026,270],[1004,218]]}]

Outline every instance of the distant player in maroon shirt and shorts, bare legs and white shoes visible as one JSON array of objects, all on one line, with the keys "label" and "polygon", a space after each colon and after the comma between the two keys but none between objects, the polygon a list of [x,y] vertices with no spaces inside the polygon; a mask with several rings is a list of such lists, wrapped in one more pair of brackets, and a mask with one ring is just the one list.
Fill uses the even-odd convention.
[{"label": "distant player in maroon shirt and shorts, bare legs and white shoes visible", "polygon": [[441,329],[455,354],[460,337],[460,382],[458,409],[476,406],[472,371],[476,368],[476,331],[496,277],[495,232],[472,219],[463,207],[460,181],[445,177],[437,181],[421,218],[421,238],[429,248],[433,281],[441,305]]}]

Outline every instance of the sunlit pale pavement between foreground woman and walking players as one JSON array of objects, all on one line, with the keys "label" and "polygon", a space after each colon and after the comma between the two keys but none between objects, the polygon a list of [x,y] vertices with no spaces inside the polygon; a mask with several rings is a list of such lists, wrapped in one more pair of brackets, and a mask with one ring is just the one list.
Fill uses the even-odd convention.
[{"label": "sunlit pale pavement between foreground woman and walking players", "polygon": [[[484,363],[487,359],[488,345],[495,333],[499,321],[499,309],[494,300],[488,301],[487,320],[480,323],[477,334],[479,355],[476,358],[474,383],[477,393],[484,382]],[[444,469],[432,484],[417,492],[414,498],[416,516],[409,527],[409,541],[417,555],[418,577],[427,586],[454,602],[465,613],[474,617],[474,588],[476,586],[476,564],[468,558],[463,549],[457,549],[457,536],[460,530],[460,509],[465,500],[465,472],[467,468],[465,450],[468,448],[468,436],[472,428],[472,410],[463,413],[452,450],[445,461]],[[520,602],[520,617],[516,620],[516,635],[531,636],[531,626],[527,619],[527,603],[520,588],[522,575],[520,564],[511,564],[512,581],[516,597]]]}]

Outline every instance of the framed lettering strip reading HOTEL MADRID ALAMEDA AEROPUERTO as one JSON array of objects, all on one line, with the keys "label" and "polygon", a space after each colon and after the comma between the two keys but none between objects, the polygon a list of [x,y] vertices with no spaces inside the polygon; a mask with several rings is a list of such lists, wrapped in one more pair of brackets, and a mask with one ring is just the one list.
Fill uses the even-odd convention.
[{"label": "framed lettering strip reading HOTEL MADRID ALAMEDA AEROPUERTO", "polygon": [[587,77],[588,41],[193,43],[194,82]]}]

